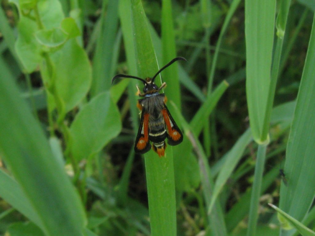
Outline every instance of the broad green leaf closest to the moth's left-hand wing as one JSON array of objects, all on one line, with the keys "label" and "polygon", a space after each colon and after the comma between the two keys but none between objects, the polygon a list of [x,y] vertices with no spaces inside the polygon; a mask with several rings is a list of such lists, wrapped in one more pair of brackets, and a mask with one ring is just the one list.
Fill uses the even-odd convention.
[{"label": "broad green leaf closest to the moth's left-hand wing", "polygon": [[84,105],[71,124],[72,154],[77,160],[99,152],[121,130],[120,114],[110,93],[100,93]]}]

